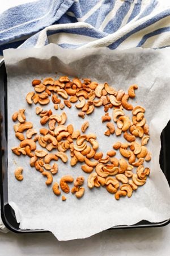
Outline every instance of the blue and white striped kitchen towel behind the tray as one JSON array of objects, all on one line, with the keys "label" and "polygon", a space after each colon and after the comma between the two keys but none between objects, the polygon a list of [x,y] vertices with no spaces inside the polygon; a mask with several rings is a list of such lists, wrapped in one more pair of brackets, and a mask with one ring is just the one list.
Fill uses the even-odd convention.
[{"label": "blue and white striped kitchen towel behind the tray", "polygon": [[39,0],[0,14],[6,48],[162,48],[170,45],[170,1]]}]

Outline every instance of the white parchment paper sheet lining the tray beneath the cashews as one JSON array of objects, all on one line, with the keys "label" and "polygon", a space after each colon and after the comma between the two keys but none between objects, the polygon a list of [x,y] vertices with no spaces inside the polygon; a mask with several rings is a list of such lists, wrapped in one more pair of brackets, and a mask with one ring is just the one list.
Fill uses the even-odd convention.
[{"label": "white parchment paper sheet lining the tray beneath the cashews", "polygon": [[[58,240],[85,238],[115,225],[131,225],[141,220],[159,222],[170,217],[170,189],[159,166],[160,134],[170,119],[170,49],[128,49],[111,51],[98,49],[62,49],[54,44],[43,48],[7,49],[4,51],[8,78],[8,200],[15,210],[20,228],[45,229],[52,232]],[[86,189],[82,199],[66,195],[62,202],[52,192],[52,186],[45,185],[45,177],[29,166],[29,158],[12,154],[11,147],[18,146],[15,138],[11,115],[20,108],[26,109],[27,121],[33,122],[37,131],[40,129],[40,117],[35,113],[37,105],[28,106],[25,96],[32,91],[31,81],[55,75],[58,72],[73,77],[91,77],[97,82],[107,81],[114,88],[127,90],[129,85],[137,83],[133,105],[146,108],[146,119],[150,125],[150,141],[148,150],[152,152],[152,160],[145,164],[151,168],[150,177],[133,196],[114,199],[106,189],[87,187],[87,174],[80,169],[80,164],[70,167],[70,161],[63,164],[58,160],[59,171],[54,181],[63,175],[76,178],[83,175]],[[57,79],[57,78],[55,78]],[[85,120],[90,122],[87,133],[95,133],[100,148],[105,154],[112,149],[116,141],[124,138],[111,135],[106,137],[105,123],[101,123],[103,108],[96,108],[94,113],[85,119],[78,117],[78,110],[54,110],[53,104],[44,106],[53,113],[67,114],[67,122],[73,123],[75,129]],[[109,110],[112,115],[113,110]],[[39,149],[40,146],[37,148]],[[69,153],[68,153],[69,155]],[[117,158],[121,156],[117,153]],[[22,182],[14,177],[14,170],[23,166]],[[70,185],[73,187],[73,184]]]}]

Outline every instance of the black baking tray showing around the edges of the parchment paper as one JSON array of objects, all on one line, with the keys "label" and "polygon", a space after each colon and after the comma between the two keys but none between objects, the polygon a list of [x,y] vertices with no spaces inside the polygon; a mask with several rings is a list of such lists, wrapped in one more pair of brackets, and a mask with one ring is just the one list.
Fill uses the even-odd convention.
[{"label": "black baking tray showing around the edges of the parchment paper", "polygon": [[[7,177],[7,75],[5,63],[2,60],[0,63],[0,113],[1,113],[1,155],[0,155],[0,193],[1,193],[1,218],[5,226],[15,233],[39,233],[48,232],[47,230],[30,230],[30,229],[20,229],[19,223],[16,222],[15,212],[8,204],[8,177]],[[167,177],[168,183],[170,184],[170,158],[168,146],[170,144],[170,122],[165,127],[161,135],[162,148],[160,151],[160,166]],[[140,221],[137,224],[128,226],[114,226],[111,229],[128,229],[128,228],[148,228],[148,227],[158,227],[165,226],[169,224],[169,220],[165,220],[158,223],[152,223],[146,220]]]}]

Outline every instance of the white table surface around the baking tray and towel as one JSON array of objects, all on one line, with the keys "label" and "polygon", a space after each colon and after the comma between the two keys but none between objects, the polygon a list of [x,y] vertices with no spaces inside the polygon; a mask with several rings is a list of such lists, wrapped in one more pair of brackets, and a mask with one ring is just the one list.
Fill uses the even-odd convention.
[{"label": "white table surface around the baking tray and towel", "polygon": [[[0,13],[33,0],[2,0]],[[59,242],[51,233],[0,232],[0,256],[168,256],[170,225],[162,228],[107,230],[84,240]]]}]

